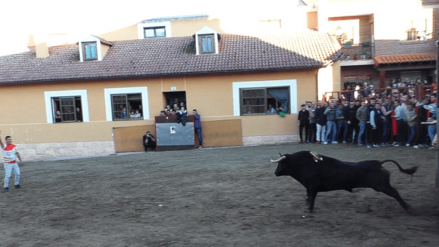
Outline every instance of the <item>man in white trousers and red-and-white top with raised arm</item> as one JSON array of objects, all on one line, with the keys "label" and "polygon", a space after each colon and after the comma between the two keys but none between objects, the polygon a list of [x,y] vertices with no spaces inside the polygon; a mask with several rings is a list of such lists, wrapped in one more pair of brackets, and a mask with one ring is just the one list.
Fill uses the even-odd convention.
[{"label": "man in white trousers and red-and-white top with raised arm", "polygon": [[[3,150],[3,162],[5,163],[5,187],[4,191],[9,191],[9,179],[12,176],[12,172],[15,174],[15,189],[20,189],[20,165],[23,165],[19,151],[16,149],[16,145],[12,144],[12,137],[5,137],[5,142],[1,141],[0,130],[0,146]],[[20,164],[16,163],[16,158],[19,158]]]}]

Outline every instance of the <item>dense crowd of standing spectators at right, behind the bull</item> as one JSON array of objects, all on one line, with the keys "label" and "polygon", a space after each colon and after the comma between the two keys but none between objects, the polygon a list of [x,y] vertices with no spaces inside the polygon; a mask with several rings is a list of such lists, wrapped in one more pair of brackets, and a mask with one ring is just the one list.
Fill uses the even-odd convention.
[{"label": "dense crowd of standing spectators at right, behind the bull", "polygon": [[[395,80],[392,87],[398,87],[400,81]],[[415,83],[422,82],[416,80]],[[410,90],[405,94],[396,90],[396,94],[359,91],[358,95],[346,93],[340,101],[329,99],[329,102],[302,104],[298,113],[300,143],[354,143],[367,148],[404,145],[432,149],[437,138],[436,91],[427,91],[425,97],[417,100]]]}]

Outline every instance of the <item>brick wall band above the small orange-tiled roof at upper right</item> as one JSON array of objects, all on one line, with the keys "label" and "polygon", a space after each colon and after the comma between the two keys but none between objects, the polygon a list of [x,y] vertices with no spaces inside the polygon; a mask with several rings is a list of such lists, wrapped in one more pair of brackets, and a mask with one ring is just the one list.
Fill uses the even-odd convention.
[{"label": "brick wall band above the small orange-tiled roof at upper right", "polygon": [[435,40],[375,40],[375,56],[436,52]]}]

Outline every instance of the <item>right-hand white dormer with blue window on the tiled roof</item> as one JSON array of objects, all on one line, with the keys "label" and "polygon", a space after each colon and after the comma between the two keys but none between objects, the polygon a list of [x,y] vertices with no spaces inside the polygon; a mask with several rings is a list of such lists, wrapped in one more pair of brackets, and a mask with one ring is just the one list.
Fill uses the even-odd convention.
[{"label": "right-hand white dormer with blue window on the tiled roof", "polygon": [[196,32],[193,37],[195,38],[197,55],[218,54],[218,32],[206,26]]}]

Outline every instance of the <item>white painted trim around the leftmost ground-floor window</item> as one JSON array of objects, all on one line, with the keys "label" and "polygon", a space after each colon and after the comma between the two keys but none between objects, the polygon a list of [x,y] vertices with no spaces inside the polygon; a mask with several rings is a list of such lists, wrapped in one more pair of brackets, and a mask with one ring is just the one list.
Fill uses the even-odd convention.
[{"label": "white painted trim around the leftmost ground-floor window", "polygon": [[52,109],[52,100],[51,100],[52,97],[69,97],[69,96],[81,97],[82,121],[84,122],[90,121],[90,114],[88,113],[88,97],[86,90],[47,91],[44,92],[47,124],[54,124],[54,112]]}]

